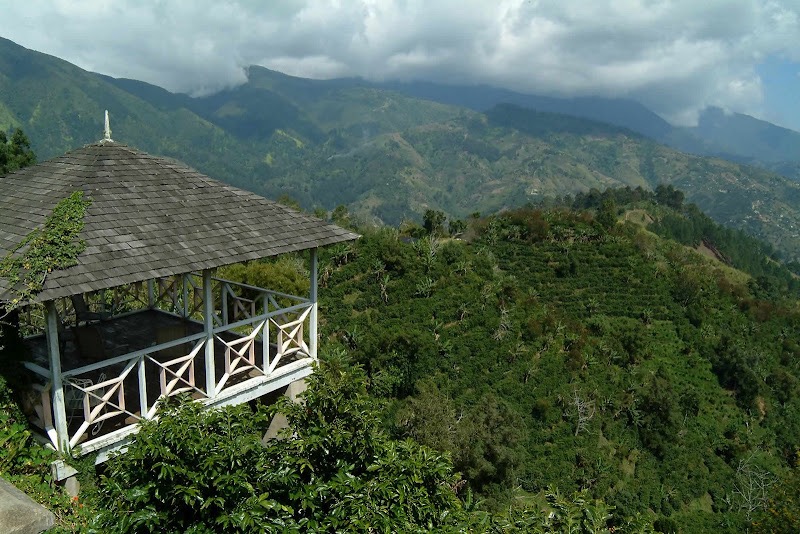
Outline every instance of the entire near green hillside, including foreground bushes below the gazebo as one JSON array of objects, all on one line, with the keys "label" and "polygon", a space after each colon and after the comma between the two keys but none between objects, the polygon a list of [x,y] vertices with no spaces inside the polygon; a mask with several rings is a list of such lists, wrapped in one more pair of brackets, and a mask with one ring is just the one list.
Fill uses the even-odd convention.
[{"label": "entire near green hillside, including foreground bushes below the gazebo", "polygon": [[[0,379],[0,474],[65,530],[796,532],[796,277],[673,188],[562,204],[323,249],[326,363],[286,440],[263,407],[170,403],[81,466],[82,508]],[[220,274],[293,285],[296,260]]]}]

